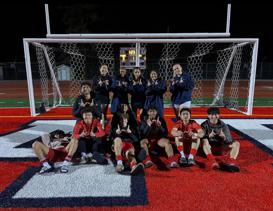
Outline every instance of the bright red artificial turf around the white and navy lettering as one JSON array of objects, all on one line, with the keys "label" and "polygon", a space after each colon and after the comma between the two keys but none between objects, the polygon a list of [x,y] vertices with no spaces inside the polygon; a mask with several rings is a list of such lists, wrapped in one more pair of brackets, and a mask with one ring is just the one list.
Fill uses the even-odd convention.
[{"label": "bright red artificial turf around the white and navy lettering", "polygon": [[[62,111],[60,111],[60,109]],[[192,118],[205,118],[207,108],[192,109]],[[262,112],[261,112],[262,111]],[[60,114],[61,112],[61,114]],[[20,113],[20,115],[19,115]],[[255,115],[273,115],[273,108],[253,108]],[[29,116],[29,109],[0,109],[0,116]],[[165,109],[166,115],[173,115],[172,109]],[[235,116],[228,116],[234,115]],[[49,117],[59,115],[59,117]],[[0,134],[18,129],[17,126],[32,119],[71,119],[60,115],[71,115],[71,108],[56,108],[47,114],[35,118],[13,117],[1,118]],[[195,116],[200,115],[200,116]],[[222,115],[222,116],[221,116]],[[247,116],[221,109],[221,118],[273,118],[273,116]],[[224,116],[227,115],[227,116]],[[173,116],[165,116],[169,130],[172,129]],[[109,130],[109,126],[107,128]],[[241,139],[231,132],[233,138]],[[173,142],[173,141],[172,141]],[[167,167],[167,155],[150,153],[154,166],[145,170],[148,190],[148,206],[136,207],[81,207],[81,208],[51,208],[51,209],[0,209],[1,210],[273,210],[273,157],[257,148],[248,140],[240,140],[240,152],[236,164],[239,173],[223,170],[211,170],[207,157],[200,151],[195,157],[195,167],[170,169]],[[175,159],[180,155],[173,146]],[[188,157],[188,155],[186,155]],[[222,168],[222,162],[227,162],[229,156],[215,156]],[[0,192],[17,178],[28,166],[38,166],[39,162],[0,162]],[[223,168],[224,169],[224,168]]]}]

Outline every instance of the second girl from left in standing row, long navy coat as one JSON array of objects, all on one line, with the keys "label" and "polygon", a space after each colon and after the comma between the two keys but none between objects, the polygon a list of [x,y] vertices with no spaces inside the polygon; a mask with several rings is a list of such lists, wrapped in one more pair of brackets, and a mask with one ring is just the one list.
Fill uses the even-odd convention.
[{"label": "second girl from left in standing row, long navy coat", "polygon": [[115,114],[117,112],[117,107],[120,102],[125,102],[129,104],[128,93],[129,93],[129,84],[130,80],[126,77],[127,70],[122,67],[119,69],[119,75],[113,79],[112,83],[112,92],[114,93],[112,99],[112,105],[110,112]]}]

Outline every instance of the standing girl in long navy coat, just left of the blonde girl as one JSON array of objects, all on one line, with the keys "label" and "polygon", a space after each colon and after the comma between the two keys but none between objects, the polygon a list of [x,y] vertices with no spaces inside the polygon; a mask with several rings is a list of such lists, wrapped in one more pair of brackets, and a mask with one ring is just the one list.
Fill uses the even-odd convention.
[{"label": "standing girl in long navy coat, just left of the blonde girl", "polygon": [[158,77],[157,70],[150,71],[150,81],[146,84],[146,102],[144,109],[147,111],[149,105],[157,106],[157,113],[164,117],[163,113],[163,95],[167,91],[166,82]]}]

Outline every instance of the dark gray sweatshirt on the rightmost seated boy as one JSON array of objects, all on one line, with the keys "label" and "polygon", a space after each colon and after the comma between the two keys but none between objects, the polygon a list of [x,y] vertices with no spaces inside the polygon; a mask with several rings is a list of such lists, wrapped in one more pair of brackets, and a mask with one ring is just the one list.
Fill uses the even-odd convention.
[{"label": "dark gray sweatshirt on the rightmost seated boy", "polygon": [[[228,143],[232,141],[231,135],[229,133],[229,128],[222,120],[218,119],[216,125],[212,125],[210,123],[210,119],[207,119],[205,122],[201,124],[203,132],[205,134],[204,138],[207,138],[208,141],[212,142],[221,142],[221,143]],[[213,129],[213,132],[216,134],[214,137],[209,138],[209,135]],[[223,133],[225,134],[225,138],[222,139],[218,134],[221,133],[221,129],[223,129]]]}]

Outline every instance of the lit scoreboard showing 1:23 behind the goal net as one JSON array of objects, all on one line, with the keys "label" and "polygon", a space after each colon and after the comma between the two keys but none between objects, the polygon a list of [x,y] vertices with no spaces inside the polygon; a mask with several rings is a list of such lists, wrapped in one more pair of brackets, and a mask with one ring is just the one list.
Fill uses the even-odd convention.
[{"label": "lit scoreboard showing 1:23 behind the goal net", "polygon": [[[136,66],[136,48],[135,47],[120,47],[120,67],[133,69]],[[146,48],[141,47],[139,51],[139,67],[146,69]]]}]

